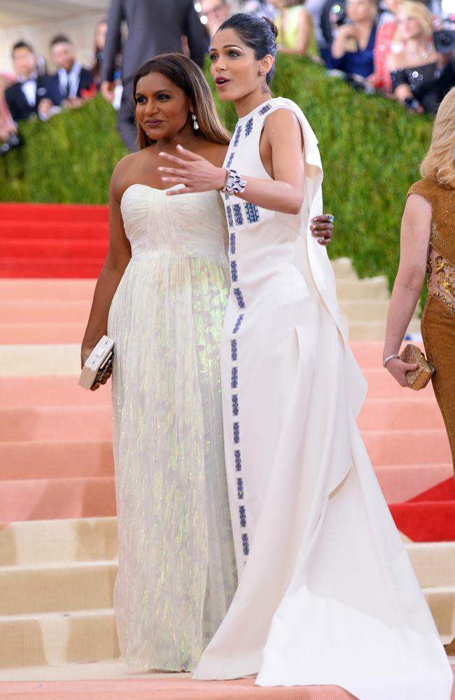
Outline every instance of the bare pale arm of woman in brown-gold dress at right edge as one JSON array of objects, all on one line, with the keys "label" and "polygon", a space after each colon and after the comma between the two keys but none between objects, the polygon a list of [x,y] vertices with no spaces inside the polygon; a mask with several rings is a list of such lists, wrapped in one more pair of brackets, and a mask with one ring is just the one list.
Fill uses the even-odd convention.
[{"label": "bare pale arm of woman in brown-gold dress at right edge", "polygon": [[[409,195],[401,222],[400,265],[388,307],[384,357],[398,354],[414,314],[425,279],[430,230],[430,204],[420,195]],[[393,359],[387,363],[387,369],[399,384],[406,386],[409,365]]]}]

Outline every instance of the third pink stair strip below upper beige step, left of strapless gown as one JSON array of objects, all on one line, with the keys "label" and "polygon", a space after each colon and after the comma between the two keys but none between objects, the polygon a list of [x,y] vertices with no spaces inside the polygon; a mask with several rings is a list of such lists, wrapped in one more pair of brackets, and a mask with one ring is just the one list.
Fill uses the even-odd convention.
[{"label": "third pink stair strip below upper beige step, left of strapless gown", "polygon": [[112,444],[110,440],[74,438],[0,442],[0,464],[1,478],[8,480],[110,476]]}]

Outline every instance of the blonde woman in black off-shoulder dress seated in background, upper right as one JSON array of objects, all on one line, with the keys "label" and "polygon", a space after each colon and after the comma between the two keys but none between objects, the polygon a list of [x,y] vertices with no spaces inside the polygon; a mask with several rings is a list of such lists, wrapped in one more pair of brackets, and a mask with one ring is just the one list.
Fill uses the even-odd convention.
[{"label": "blonde woman in black off-shoulder dress seated in background, upper right", "polygon": [[435,83],[437,53],[430,10],[421,2],[404,2],[397,13],[396,27],[395,39],[402,42],[402,49],[390,53],[387,61],[393,94],[408,109],[432,111],[433,106],[427,109],[426,97]]}]

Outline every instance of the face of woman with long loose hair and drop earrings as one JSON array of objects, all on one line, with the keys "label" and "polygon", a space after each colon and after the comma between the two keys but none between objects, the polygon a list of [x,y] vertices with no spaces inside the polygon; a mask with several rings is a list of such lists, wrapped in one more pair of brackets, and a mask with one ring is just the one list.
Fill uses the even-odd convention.
[{"label": "face of woman with long loose hair and drop earrings", "polygon": [[137,81],[136,120],[151,141],[172,139],[190,127],[190,99],[162,73]]}]

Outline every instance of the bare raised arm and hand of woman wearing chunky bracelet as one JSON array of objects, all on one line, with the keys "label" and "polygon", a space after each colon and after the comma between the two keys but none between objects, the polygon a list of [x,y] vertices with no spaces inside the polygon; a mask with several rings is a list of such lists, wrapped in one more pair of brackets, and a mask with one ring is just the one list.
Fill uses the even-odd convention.
[{"label": "bare raised arm and hand of woman wearing chunky bracelet", "polygon": [[[286,134],[286,139],[283,139]],[[298,214],[304,199],[304,160],[302,155],[302,132],[295,114],[288,109],[279,109],[265,120],[262,133],[262,150],[269,160],[272,180],[246,179],[244,193],[237,195],[242,200],[257,204],[264,209],[281,211],[283,214]],[[221,190],[226,181],[226,169],[212,165],[199,155],[179,148],[180,158],[160,153],[174,167],[160,167],[167,183],[183,183],[181,190],[168,190],[170,196],[188,192]],[[267,169],[267,163],[265,163]]]}]

